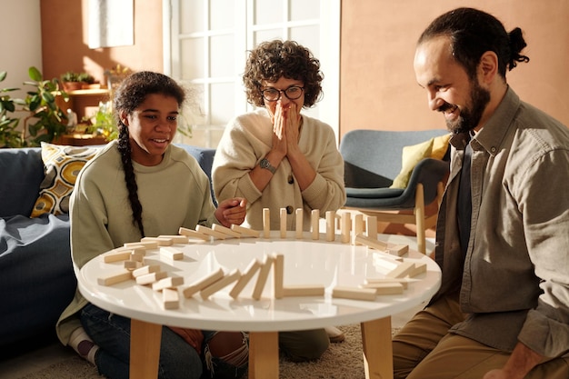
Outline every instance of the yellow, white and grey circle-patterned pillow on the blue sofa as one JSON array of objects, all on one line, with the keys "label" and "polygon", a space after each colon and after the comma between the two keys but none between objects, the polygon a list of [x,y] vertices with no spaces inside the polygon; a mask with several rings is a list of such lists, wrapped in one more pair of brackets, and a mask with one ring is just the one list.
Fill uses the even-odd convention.
[{"label": "yellow, white and grey circle-patterned pillow on the blue sofa", "polygon": [[85,163],[97,152],[94,147],[52,145],[42,142],[45,178],[30,217],[69,213],[69,196]]}]

